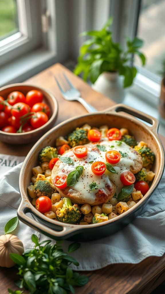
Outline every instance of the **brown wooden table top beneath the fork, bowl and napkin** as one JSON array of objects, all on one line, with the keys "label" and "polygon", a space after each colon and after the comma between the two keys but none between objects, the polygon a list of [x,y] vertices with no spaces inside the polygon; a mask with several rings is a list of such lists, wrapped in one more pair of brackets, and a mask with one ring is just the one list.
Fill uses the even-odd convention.
[{"label": "brown wooden table top beneath the fork, bowl and napkin", "polygon": [[[26,83],[41,86],[50,90],[57,98],[59,103],[59,113],[56,124],[67,118],[87,113],[85,108],[77,101],[65,101],[54,80],[53,75],[58,75],[65,71],[85,98],[92,106],[101,111],[109,108],[113,104],[109,98],[95,92],[84,83],[82,79],[75,76],[61,64],[55,64],[42,71],[36,76],[30,78]],[[165,138],[160,136],[165,146]],[[25,156],[33,146],[33,143],[27,145],[8,145],[0,142],[0,153]],[[160,283],[165,280],[165,255],[161,258],[149,257],[139,264],[116,264],[110,265],[101,270],[86,273],[89,276],[87,285],[76,288],[76,293],[81,294],[149,294]],[[0,268],[0,293],[6,294],[7,288],[16,290],[14,284],[16,279],[13,268]],[[159,293],[161,294],[161,293]]]}]

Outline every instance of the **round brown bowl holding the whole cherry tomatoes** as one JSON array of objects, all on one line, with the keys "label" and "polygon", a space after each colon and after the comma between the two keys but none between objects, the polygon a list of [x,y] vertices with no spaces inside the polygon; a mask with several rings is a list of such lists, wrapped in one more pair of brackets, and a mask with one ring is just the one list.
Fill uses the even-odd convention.
[{"label": "round brown bowl holding the whole cherry tomatoes", "polygon": [[55,124],[57,114],[58,114],[58,103],[53,94],[51,94],[46,89],[37,87],[35,85],[26,85],[23,83],[16,83],[4,86],[0,88],[0,96],[4,99],[7,98],[8,94],[13,91],[20,91],[25,96],[28,91],[38,90],[43,93],[44,102],[50,107],[50,118],[43,126],[37,128],[33,131],[26,133],[5,133],[0,131],[0,141],[9,143],[9,144],[27,144],[33,141],[37,141],[41,136],[46,133],[50,128]]}]

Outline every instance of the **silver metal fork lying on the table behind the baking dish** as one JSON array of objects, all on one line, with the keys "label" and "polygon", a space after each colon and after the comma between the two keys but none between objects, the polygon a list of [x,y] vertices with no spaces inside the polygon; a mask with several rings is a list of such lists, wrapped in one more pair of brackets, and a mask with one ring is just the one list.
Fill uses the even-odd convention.
[{"label": "silver metal fork lying on the table behind the baking dish", "polygon": [[[60,92],[65,100],[72,101],[77,100],[79,101],[88,112],[96,112],[97,109],[95,109],[93,106],[91,106],[89,103],[87,103],[82,97],[78,89],[76,89],[67,78],[66,74],[63,72],[62,75],[58,76],[58,79],[54,76],[56,83],[58,85],[58,88],[60,89]],[[60,83],[59,83],[60,81]],[[60,85],[61,84],[61,85]]]}]

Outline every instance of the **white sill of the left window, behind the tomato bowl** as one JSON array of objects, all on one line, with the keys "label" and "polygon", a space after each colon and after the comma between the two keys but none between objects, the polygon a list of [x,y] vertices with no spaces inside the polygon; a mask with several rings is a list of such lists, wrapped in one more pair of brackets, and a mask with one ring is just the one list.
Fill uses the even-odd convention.
[{"label": "white sill of the left window, behind the tomato bowl", "polygon": [[[29,54],[1,67],[0,87],[23,82],[57,62],[55,52],[46,49],[33,50]],[[60,62],[60,60],[58,60]]]}]

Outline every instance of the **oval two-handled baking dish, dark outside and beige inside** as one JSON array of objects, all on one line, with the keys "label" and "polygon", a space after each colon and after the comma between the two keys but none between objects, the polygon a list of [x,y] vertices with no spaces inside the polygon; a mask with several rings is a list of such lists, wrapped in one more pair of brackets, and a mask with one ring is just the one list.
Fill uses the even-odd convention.
[{"label": "oval two-handled baking dish, dark outside and beige inside", "polygon": [[[146,125],[146,123],[137,118],[147,122],[149,125]],[[137,141],[145,141],[156,156],[153,165],[155,178],[145,196],[135,206],[116,218],[90,225],[72,225],[51,220],[37,211],[29,200],[27,187],[31,182],[32,167],[38,165],[38,153],[40,150],[47,145],[55,146],[56,138],[66,136],[76,127],[83,126],[85,123],[91,126],[106,124],[110,128],[127,128],[129,133],[134,135]],[[143,206],[147,203],[161,180],[164,171],[164,149],[157,133],[158,126],[159,122],[152,116],[123,104],[112,106],[106,111],[71,118],[55,126],[33,146],[25,158],[19,177],[19,189],[22,199],[17,212],[18,217],[35,230],[56,240],[68,238],[77,241],[94,240],[117,232],[117,230],[123,228],[141,213]],[[29,217],[26,214],[27,212],[31,212],[34,218]]]}]

